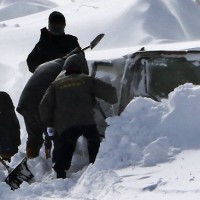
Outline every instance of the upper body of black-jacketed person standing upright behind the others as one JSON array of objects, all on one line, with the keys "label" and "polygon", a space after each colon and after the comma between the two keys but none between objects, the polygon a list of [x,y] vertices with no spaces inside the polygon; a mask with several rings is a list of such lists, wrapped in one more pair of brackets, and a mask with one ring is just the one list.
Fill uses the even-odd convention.
[{"label": "upper body of black-jacketed person standing upright behind the others", "polygon": [[62,13],[54,11],[49,15],[48,29],[41,29],[39,42],[28,55],[27,65],[30,72],[47,61],[62,58],[76,47],[80,47],[78,39],[65,34],[65,17]]}]

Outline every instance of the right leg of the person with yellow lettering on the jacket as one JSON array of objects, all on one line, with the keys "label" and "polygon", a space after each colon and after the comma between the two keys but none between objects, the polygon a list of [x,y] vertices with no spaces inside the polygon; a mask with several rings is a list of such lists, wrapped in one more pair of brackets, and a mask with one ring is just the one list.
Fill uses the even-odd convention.
[{"label": "right leg of the person with yellow lettering on the jacket", "polygon": [[83,135],[88,142],[89,163],[94,163],[100,146],[100,136],[96,125],[87,126]]}]

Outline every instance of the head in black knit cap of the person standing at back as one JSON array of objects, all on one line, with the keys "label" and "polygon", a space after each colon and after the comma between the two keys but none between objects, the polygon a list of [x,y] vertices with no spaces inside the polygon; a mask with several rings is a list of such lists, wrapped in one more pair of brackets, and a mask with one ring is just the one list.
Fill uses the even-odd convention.
[{"label": "head in black knit cap of the person standing at back", "polygon": [[62,35],[65,33],[65,16],[58,12],[54,11],[49,15],[49,24],[48,29],[53,35]]}]

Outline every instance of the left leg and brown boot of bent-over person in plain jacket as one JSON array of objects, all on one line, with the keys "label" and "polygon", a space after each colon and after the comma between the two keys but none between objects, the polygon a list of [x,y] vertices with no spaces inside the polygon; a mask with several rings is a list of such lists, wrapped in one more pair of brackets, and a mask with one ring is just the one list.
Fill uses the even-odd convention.
[{"label": "left leg and brown boot of bent-over person in plain jacket", "polygon": [[40,148],[44,142],[43,126],[37,113],[28,113],[23,115],[28,139],[26,143],[26,153],[28,158],[39,156]]}]

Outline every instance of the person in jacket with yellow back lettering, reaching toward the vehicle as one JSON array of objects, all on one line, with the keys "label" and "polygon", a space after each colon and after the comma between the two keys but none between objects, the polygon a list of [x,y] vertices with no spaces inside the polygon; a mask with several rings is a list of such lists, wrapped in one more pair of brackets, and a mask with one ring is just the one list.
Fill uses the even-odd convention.
[{"label": "person in jacket with yellow back lettering, reaching toward the vehicle", "polygon": [[68,57],[58,77],[46,91],[40,103],[41,120],[53,136],[52,161],[57,178],[66,178],[78,138],[87,139],[89,162],[94,163],[100,137],[94,119],[95,98],[115,104],[116,89],[97,78],[82,74],[85,63],[81,54]]}]

